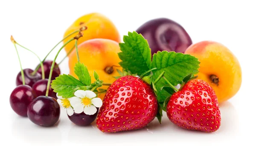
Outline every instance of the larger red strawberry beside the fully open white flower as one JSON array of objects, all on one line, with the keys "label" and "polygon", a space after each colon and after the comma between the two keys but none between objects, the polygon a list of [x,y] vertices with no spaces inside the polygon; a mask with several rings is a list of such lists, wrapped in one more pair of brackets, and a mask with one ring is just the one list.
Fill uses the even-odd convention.
[{"label": "larger red strawberry beside the fully open white flower", "polygon": [[157,99],[150,85],[134,76],[117,79],[108,88],[97,116],[102,132],[145,127],[157,114]]}]

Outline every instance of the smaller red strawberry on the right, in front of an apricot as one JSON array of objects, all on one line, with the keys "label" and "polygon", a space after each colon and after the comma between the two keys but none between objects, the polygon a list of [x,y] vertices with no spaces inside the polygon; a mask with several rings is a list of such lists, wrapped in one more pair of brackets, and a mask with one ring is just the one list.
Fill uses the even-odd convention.
[{"label": "smaller red strawberry on the right, in front of an apricot", "polygon": [[194,79],[174,93],[167,104],[167,116],[184,129],[214,132],[221,125],[218,99],[212,87]]}]

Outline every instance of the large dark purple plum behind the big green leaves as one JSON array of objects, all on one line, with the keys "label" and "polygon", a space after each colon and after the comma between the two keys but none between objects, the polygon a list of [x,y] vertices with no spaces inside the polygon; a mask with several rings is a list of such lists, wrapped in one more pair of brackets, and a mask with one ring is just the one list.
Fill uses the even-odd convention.
[{"label": "large dark purple plum behind the big green leaves", "polygon": [[167,18],[150,20],[140,28],[137,33],[148,40],[151,54],[157,51],[175,51],[184,53],[192,44],[192,40],[185,29],[175,21]]}]

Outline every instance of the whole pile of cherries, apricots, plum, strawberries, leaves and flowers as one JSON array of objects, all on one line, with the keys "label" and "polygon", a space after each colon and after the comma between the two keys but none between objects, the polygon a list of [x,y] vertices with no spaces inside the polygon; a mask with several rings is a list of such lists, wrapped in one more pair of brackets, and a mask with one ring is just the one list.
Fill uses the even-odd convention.
[{"label": "whole pile of cherries, apricots, plum, strawberries, leaves and flowers", "polygon": [[[61,42],[55,58],[46,60]],[[74,124],[96,120],[102,132],[140,129],[155,117],[161,123],[163,111],[178,127],[214,132],[221,126],[219,104],[241,86],[239,62],[228,48],[212,41],[192,44],[185,29],[166,18],[148,21],[121,42],[107,17],[87,14],[58,44],[43,60],[26,48],[40,64],[35,70],[20,64],[10,96],[18,115],[45,127],[59,120],[63,107]],[[55,63],[63,48],[69,74]]]}]

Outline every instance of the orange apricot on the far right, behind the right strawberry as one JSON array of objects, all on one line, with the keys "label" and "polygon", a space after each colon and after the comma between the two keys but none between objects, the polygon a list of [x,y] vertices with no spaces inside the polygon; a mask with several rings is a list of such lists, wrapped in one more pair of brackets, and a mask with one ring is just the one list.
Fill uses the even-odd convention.
[{"label": "orange apricot on the far right, behind the right strawberry", "polygon": [[218,102],[235,96],[242,81],[242,72],[236,56],[218,42],[202,41],[189,46],[185,54],[199,59],[198,79],[208,82],[215,90]]}]

